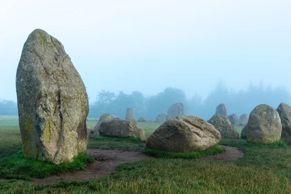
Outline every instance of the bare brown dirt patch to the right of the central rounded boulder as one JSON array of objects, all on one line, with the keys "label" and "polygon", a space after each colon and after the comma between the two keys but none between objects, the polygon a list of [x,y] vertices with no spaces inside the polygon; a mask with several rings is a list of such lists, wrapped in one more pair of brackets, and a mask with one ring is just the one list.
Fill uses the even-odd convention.
[{"label": "bare brown dirt patch to the right of the central rounded boulder", "polygon": [[243,157],[243,152],[236,147],[222,146],[225,148],[225,152],[218,153],[212,156],[206,156],[199,158],[202,161],[236,161]]}]

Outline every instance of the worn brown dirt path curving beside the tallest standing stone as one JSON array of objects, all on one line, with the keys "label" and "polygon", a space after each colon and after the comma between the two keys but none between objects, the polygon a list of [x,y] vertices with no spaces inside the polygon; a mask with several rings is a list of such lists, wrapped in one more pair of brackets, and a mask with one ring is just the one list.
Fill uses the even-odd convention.
[{"label": "worn brown dirt path curving beside the tallest standing stone", "polygon": [[112,172],[116,172],[116,166],[125,162],[138,161],[142,159],[152,159],[144,153],[143,147],[115,148],[115,149],[87,149],[87,153],[95,158],[95,162],[89,164],[85,170],[60,175],[52,175],[49,178],[38,178],[34,183],[50,183],[56,181],[88,180],[97,177],[106,177]]}]

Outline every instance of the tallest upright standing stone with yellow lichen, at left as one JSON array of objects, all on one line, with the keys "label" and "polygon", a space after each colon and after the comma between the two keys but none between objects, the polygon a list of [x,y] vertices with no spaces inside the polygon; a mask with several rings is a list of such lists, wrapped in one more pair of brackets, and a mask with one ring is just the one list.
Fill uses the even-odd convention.
[{"label": "tallest upright standing stone with yellow lichen, at left", "polygon": [[59,164],[86,151],[84,83],[62,43],[43,30],[34,30],[23,46],[16,93],[24,157]]}]

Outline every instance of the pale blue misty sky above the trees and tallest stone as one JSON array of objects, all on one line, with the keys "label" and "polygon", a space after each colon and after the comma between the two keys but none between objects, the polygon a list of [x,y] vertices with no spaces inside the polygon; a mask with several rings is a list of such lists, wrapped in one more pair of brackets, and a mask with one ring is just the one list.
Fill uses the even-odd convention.
[{"label": "pale blue misty sky above the trees and tallest stone", "polygon": [[87,87],[206,97],[262,80],[291,91],[291,0],[2,0],[0,98],[16,100],[21,50],[37,28],[61,41]]}]

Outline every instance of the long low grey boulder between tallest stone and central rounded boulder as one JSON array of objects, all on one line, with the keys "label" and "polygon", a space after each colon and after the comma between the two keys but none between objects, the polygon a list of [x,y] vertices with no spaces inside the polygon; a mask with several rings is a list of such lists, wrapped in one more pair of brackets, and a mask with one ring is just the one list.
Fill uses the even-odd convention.
[{"label": "long low grey boulder between tallest stone and central rounded boulder", "polygon": [[146,140],[145,131],[134,120],[114,118],[101,123],[99,134],[114,137],[136,137]]}]

